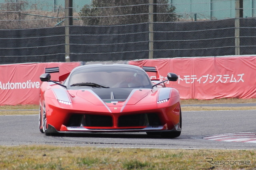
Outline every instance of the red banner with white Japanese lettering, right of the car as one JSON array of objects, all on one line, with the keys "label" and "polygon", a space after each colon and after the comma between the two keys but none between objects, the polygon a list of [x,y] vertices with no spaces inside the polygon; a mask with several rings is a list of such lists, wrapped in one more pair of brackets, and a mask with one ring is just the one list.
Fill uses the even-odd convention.
[{"label": "red banner with white Japanese lettering, right of the car", "polygon": [[178,75],[167,82],[182,99],[256,98],[256,56],[171,58],[130,61],[137,66],[157,66],[161,78]]}]

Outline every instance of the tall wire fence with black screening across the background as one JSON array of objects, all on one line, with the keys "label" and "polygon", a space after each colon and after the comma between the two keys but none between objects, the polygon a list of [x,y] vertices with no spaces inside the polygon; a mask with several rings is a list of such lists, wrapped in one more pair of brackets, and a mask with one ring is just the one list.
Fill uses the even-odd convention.
[{"label": "tall wire fence with black screening across the background", "polygon": [[254,0],[0,0],[0,64],[256,54]]}]

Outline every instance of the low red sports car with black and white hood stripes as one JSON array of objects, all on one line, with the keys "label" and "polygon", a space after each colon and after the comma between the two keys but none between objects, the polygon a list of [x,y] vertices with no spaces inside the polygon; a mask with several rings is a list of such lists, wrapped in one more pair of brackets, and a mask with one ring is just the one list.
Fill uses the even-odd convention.
[{"label": "low red sports car with black and white hood stripes", "polygon": [[[168,79],[161,81],[156,67],[128,64],[78,66],[58,81],[50,79],[52,72],[58,72],[58,67],[46,68],[40,76],[42,133],[146,132],[168,138],[180,136],[179,92],[164,84],[176,81],[176,74],[168,73]],[[155,76],[150,80],[148,75],[152,74]]]}]

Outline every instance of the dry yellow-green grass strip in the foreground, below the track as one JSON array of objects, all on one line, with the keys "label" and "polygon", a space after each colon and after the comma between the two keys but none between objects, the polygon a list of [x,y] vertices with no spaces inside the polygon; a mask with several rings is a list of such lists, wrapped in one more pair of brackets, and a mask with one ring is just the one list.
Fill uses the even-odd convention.
[{"label": "dry yellow-green grass strip in the foreground, below the track", "polygon": [[[187,170],[255,169],[256,150],[128,149],[60,146],[0,146],[0,169]],[[226,165],[210,164],[226,161]],[[236,161],[233,165],[227,161]],[[249,161],[250,165],[239,165]],[[217,163],[218,163],[217,162]]]}]

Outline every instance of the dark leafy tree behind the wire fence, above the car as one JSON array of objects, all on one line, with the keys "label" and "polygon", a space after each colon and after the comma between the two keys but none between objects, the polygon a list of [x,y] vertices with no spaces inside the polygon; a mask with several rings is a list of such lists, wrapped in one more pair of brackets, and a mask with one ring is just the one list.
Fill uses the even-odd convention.
[{"label": "dark leafy tree behind the wire fence, above the car", "polygon": [[[157,21],[176,21],[175,6],[168,0],[156,0]],[[92,0],[79,12],[84,25],[124,25],[148,22],[148,0]]]}]

